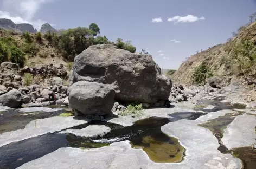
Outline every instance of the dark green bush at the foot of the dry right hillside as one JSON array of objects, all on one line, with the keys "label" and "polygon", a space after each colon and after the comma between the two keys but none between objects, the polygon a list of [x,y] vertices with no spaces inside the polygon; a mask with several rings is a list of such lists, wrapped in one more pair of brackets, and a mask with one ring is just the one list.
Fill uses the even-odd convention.
[{"label": "dark green bush at the foot of the dry right hillside", "polygon": [[199,67],[195,69],[193,74],[194,80],[196,83],[206,84],[206,78],[212,77],[213,73],[209,70],[208,66],[205,63],[202,63]]}]

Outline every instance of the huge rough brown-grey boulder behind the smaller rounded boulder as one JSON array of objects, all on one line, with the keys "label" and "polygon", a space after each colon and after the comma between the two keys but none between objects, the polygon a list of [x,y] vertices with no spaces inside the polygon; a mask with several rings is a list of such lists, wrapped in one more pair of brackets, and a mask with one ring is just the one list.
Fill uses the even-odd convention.
[{"label": "huge rough brown-grey boulder behind the smaller rounded boulder", "polygon": [[75,57],[70,85],[78,81],[111,84],[117,101],[168,100],[172,82],[151,55],[133,54],[110,44],[90,46]]}]

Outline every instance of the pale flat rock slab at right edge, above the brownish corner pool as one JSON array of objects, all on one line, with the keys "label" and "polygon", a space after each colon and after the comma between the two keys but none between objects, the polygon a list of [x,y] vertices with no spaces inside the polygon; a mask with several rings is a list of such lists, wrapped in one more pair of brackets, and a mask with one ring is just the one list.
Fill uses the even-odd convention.
[{"label": "pale flat rock slab at right edge, above the brownish corner pool", "polygon": [[256,143],[255,126],[256,116],[236,116],[224,130],[221,140],[228,149],[251,146]]}]

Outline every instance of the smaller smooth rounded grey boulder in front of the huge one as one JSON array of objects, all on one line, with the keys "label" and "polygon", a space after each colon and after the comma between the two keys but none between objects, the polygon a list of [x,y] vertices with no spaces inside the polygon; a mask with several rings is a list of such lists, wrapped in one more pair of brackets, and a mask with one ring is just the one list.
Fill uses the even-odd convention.
[{"label": "smaller smooth rounded grey boulder in front of the huge one", "polygon": [[106,115],[114,105],[111,85],[79,81],[68,89],[69,107],[84,115]]}]

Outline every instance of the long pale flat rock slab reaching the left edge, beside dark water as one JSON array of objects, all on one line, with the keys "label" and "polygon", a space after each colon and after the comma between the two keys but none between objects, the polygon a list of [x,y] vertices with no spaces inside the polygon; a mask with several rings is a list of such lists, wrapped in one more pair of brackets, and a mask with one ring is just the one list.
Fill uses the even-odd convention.
[{"label": "long pale flat rock slab reaching the left edge, beside dark water", "polygon": [[33,120],[27,124],[24,129],[0,134],[0,147],[10,144],[11,142],[25,140],[46,133],[61,131],[66,128],[86,123],[86,120],[74,119],[73,117],[53,117]]}]

